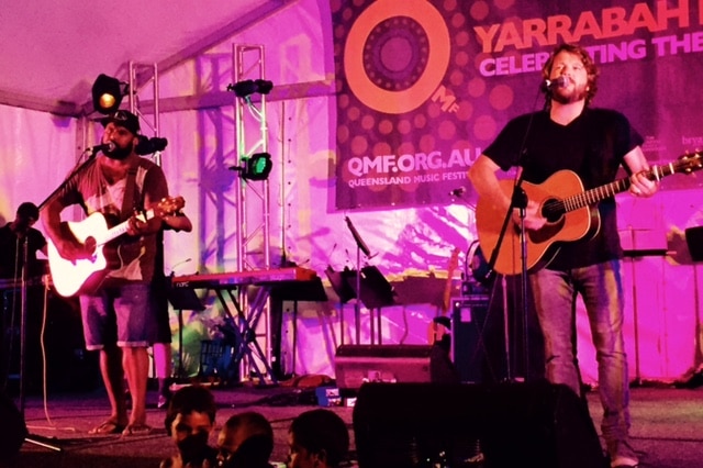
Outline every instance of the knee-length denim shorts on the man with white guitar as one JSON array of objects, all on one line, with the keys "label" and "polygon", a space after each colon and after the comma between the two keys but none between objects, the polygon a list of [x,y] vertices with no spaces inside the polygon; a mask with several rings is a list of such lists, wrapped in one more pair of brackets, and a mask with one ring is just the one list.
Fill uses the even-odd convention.
[{"label": "knee-length denim shorts on the man with white guitar", "polygon": [[80,297],[86,348],[146,347],[156,335],[156,308],[149,285],[102,288]]}]

